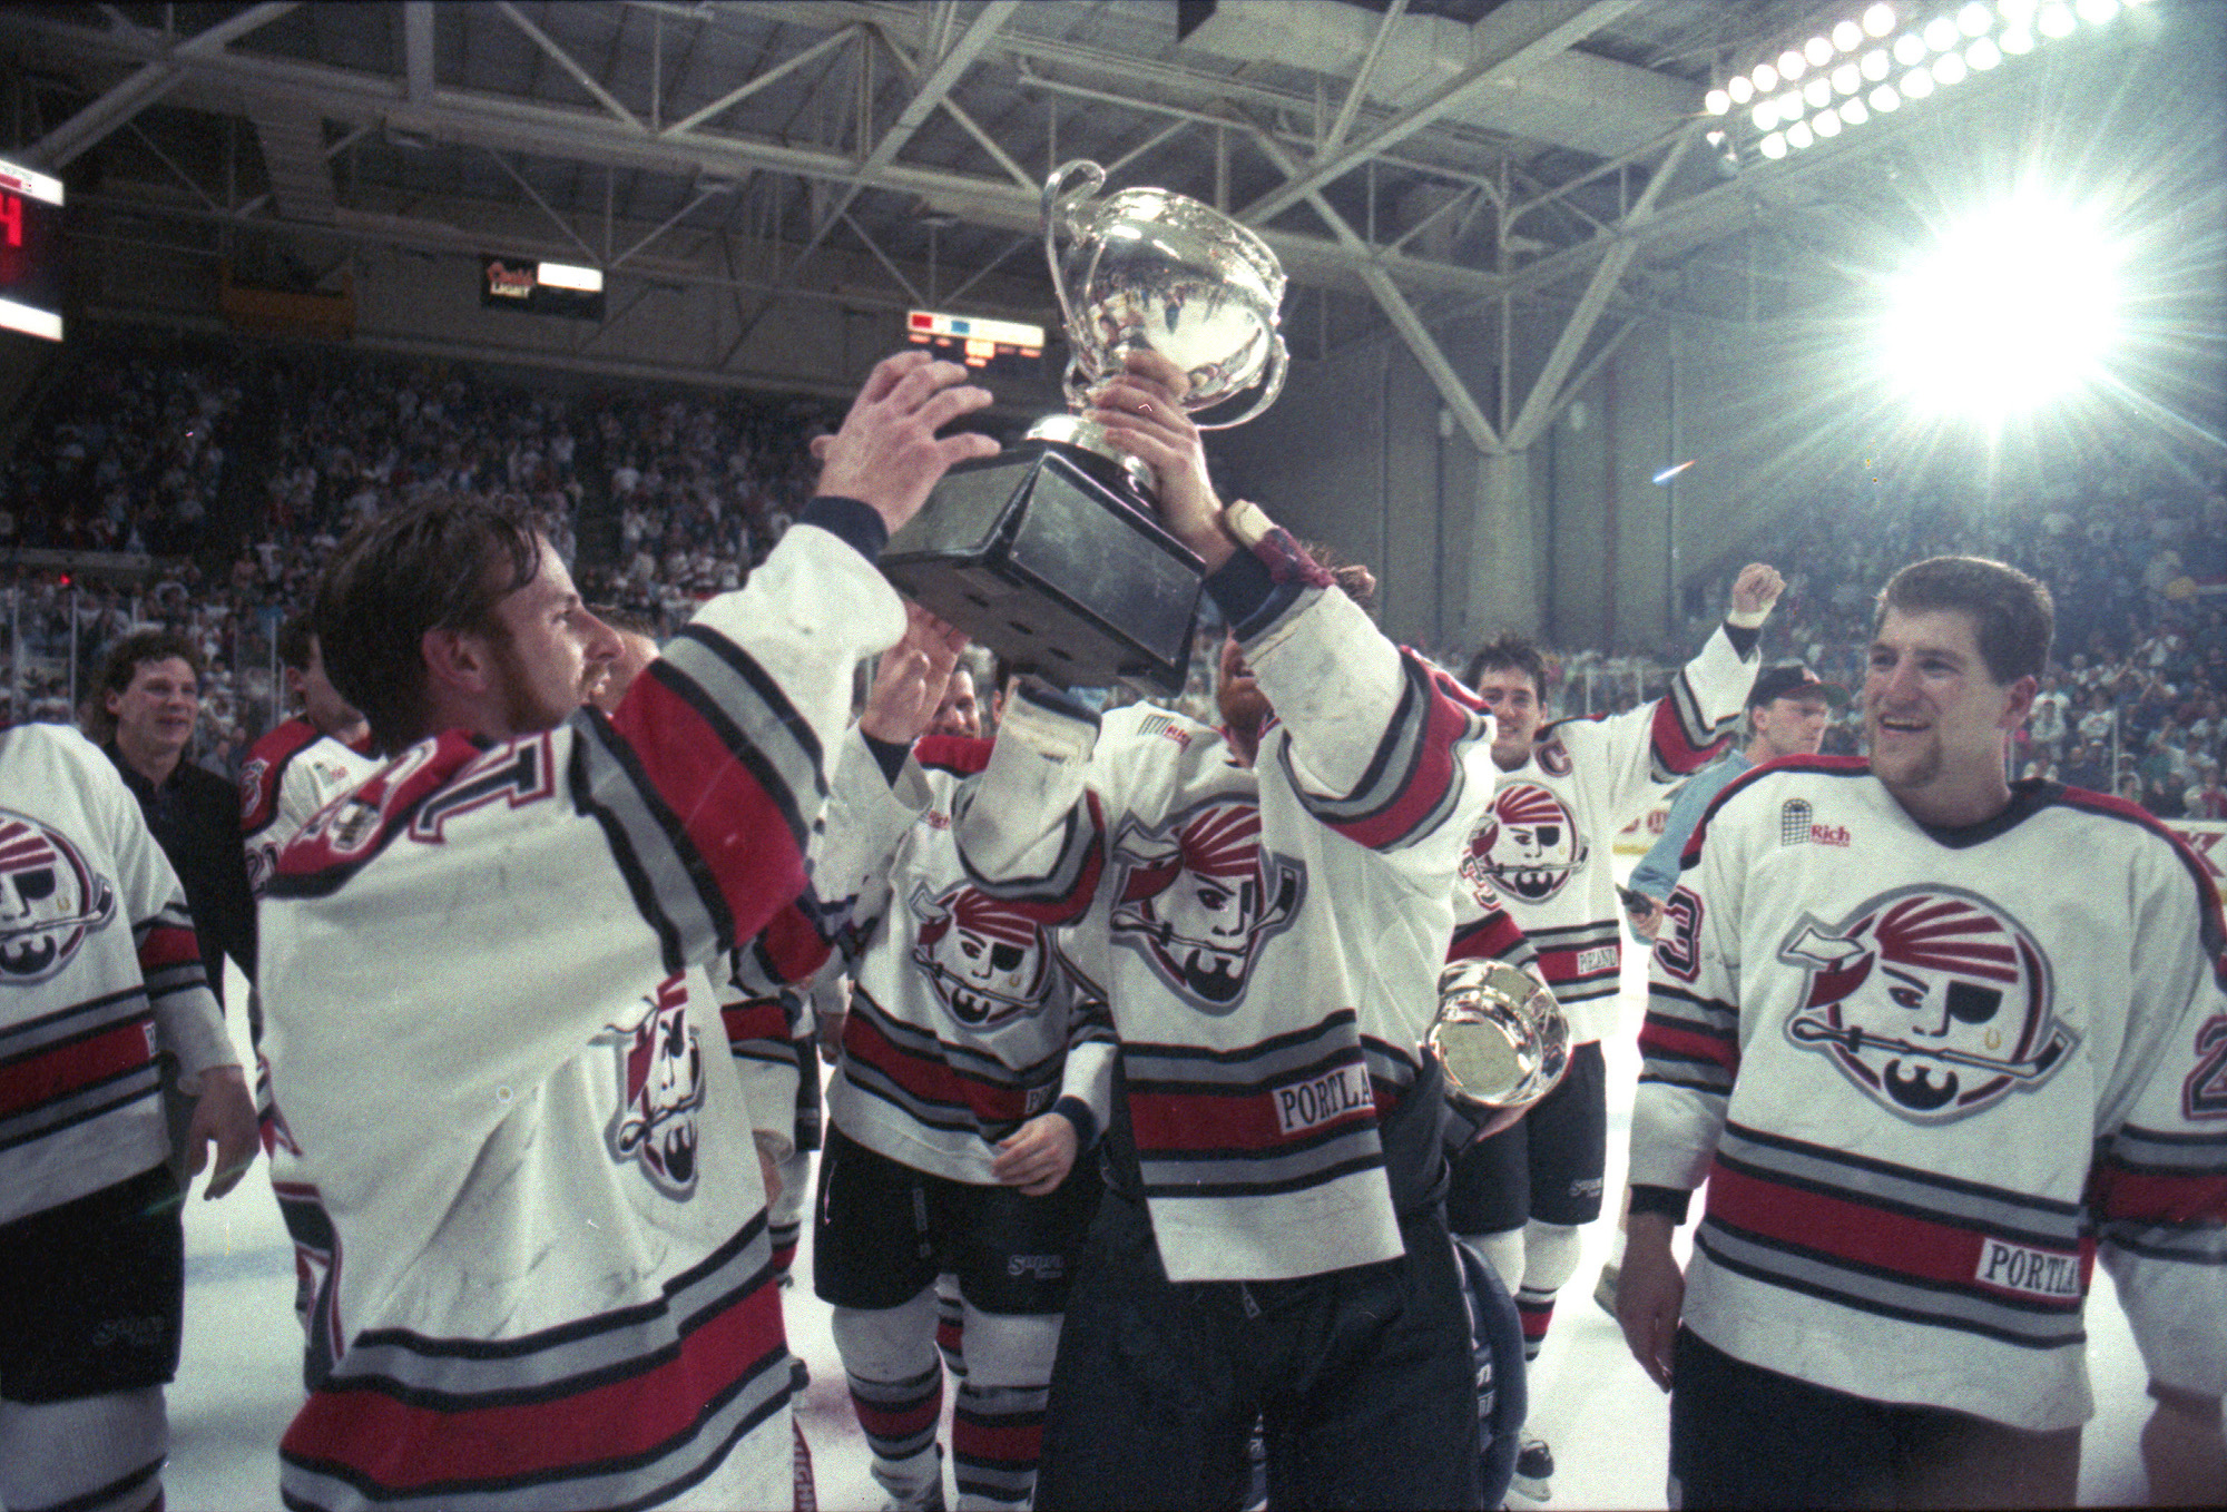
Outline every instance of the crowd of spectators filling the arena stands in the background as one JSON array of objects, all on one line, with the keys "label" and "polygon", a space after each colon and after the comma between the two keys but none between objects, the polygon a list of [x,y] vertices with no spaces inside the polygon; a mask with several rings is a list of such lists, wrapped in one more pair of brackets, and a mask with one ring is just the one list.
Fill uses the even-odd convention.
[{"label": "crowd of spectators filling the arena stands in the background", "polygon": [[[120,338],[71,352],[0,461],[0,724],[71,717],[69,668],[131,626],[185,630],[207,652],[200,759],[227,766],[283,717],[272,637],[359,519],[428,492],[503,497],[579,552],[595,603],[661,632],[737,586],[811,494],[808,443],[840,410],[817,399],[555,387],[461,363],[330,350]],[[2027,568],[2058,599],[2058,650],[2020,773],[2118,791],[2158,815],[2227,817],[2227,497],[2167,456],[2122,448],[2035,488],[1826,479],[1735,559],[1788,579],[1766,655],[1857,688],[1871,595],[1935,552]],[[13,548],[156,559],[129,579],[58,581]],[[1661,690],[1690,635],[1659,657],[1550,657],[1563,713]],[[1211,717],[1218,632],[1200,635],[1180,704]],[[1448,650],[1450,666],[1461,652]],[[78,693],[82,697],[82,670]],[[1559,697],[1557,697],[1559,695]],[[1116,693],[1114,701],[1125,701]],[[1851,706],[1826,750],[1855,750]]]}]

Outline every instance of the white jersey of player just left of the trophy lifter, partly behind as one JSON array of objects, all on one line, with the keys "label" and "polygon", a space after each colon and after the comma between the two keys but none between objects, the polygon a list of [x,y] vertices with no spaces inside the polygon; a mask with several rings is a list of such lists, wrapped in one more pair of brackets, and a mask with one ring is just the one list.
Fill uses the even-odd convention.
[{"label": "white jersey of player just left of the trophy lifter, partly behind", "polygon": [[891,1160],[978,1187],[998,1185],[995,1142],[1062,1098],[1105,1129],[1114,1087],[1114,1024],[1058,962],[1056,909],[993,897],[960,864],[951,802],[989,750],[922,739],[893,786],[853,726],[813,866],[824,900],[855,900],[828,1118]]}]

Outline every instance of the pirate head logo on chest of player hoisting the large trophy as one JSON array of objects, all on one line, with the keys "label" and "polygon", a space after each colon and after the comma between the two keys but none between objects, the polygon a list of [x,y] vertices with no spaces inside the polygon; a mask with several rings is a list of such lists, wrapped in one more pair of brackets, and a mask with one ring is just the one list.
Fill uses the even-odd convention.
[{"label": "pirate head logo on chest of player hoisting the large trophy", "polygon": [[1160,828],[1129,822],[1114,860],[1114,937],[1214,1015],[1236,1009],[1260,946],[1307,893],[1305,866],[1260,844],[1260,808],[1245,799],[1200,804]]}]

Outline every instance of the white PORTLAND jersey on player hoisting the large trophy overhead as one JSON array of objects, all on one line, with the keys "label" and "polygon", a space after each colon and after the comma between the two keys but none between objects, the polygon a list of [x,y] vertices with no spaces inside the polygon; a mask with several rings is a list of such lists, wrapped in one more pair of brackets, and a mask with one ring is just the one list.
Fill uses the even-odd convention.
[{"label": "white PORTLAND jersey on player hoisting the large trophy overhead", "polygon": [[1490,717],[1345,595],[1298,592],[1245,657],[1281,715],[1254,766],[1145,704],[1091,757],[1085,721],[1022,697],[958,815],[984,891],[1080,920],[1171,1280],[1403,1251],[1381,1120],[1421,1069],[1488,797],[1468,757]]}]

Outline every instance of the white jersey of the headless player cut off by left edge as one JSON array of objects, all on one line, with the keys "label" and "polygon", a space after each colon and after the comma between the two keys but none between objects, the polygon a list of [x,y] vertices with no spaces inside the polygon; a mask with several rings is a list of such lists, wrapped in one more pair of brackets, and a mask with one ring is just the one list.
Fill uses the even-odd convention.
[{"label": "white jersey of the headless player cut off by left edge", "polygon": [[0,730],[0,1223],[169,1158],[163,1051],[238,1064],[178,873],[98,746]]}]

